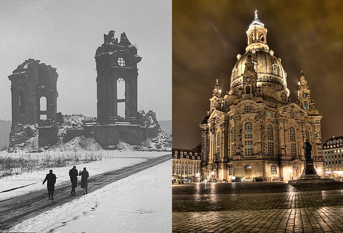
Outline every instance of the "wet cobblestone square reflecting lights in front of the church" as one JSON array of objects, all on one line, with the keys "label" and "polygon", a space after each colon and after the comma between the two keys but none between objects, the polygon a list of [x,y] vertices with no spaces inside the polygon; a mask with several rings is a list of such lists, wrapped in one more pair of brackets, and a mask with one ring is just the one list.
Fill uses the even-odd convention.
[{"label": "wet cobblestone square reflecting lights in front of the church", "polygon": [[343,232],[343,183],[191,183],[172,187],[172,230]]}]

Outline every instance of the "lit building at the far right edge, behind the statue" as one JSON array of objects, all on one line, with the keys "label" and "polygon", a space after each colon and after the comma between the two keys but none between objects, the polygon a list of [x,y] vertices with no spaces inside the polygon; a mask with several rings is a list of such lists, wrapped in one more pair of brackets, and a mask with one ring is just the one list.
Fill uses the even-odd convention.
[{"label": "lit building at the far right edge, behind the statue", "polygon": [[343,177],[343,136],[331,137],[323,143],[325,174],[329,178]]}]

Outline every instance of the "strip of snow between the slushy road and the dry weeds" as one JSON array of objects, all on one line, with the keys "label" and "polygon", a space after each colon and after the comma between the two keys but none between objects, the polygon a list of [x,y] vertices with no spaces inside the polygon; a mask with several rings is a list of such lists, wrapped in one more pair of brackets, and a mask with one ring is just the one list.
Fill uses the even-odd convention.
[{"label": "strip of snow between the slushy road and the dry weeds", "polygon": [[[90,176],[101,174],[103,172],[120,169],[125,166],[132,166],[138,163],[145,161],[144,158],[155,158],[161,155],[164,155],[161,152],[156,151],[133,151],[133,150],[111,150],[106,151],[102,150],[103,160],[84,163],[75,165],[78,170],[82,170],[84,167],[87,168]],[[110,153],[107,155],[107,153]],[[12,153],[15,156],[16,153]],[[31,154],[31,153],[30,153]],[[38,154],[38,153],[37,153]],[[1,153],[2,156],[11,156],[11,154]],[[39,155],[36,155],[39,156]],[[139,158],[138,158],[139,157]],[[72,166],[68,167],[55,167],[51,168],[53,173],[56,175],[56,185],[69,181],[69,169]],[[45,179],[46,174],[49,173],[49,169],[42,171],[34,171],[32,173],[23,173],[21,176],[12,176],[4,177],[0,179],[0,200],[6,200],[13,198],[22,194],[26,194],[32,191],[46,189],[46,184],[42,185],[43,180]],[[28,185],[28,186],[26,186]],[[25,186],[25,187],[22,187]],[[21,188],[17,188],[21,187]],[[17,188],[8,192],[3,192],[5,190]]]}]

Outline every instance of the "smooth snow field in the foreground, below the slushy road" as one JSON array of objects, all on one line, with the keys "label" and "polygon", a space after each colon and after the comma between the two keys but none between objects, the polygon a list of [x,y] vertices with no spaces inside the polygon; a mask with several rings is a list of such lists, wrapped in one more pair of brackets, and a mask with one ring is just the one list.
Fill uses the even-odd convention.
[{"label": "smooth snow field in the foreground, below the slushy road", "polygon": [[171,163],[108,184],[7,232],[172,232]]}]

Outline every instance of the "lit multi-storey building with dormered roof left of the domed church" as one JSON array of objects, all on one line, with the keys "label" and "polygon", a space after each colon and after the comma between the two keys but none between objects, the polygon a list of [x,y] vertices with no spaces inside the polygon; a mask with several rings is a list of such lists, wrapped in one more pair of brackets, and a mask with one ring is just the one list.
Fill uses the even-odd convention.
[{"label": "lit multi-storey building with dormered roof left of the domed church", "polygon": [[172,180],[197,182],[200,179],[201,156],[197,150],[172,149]]}]

